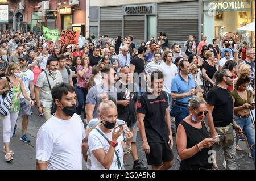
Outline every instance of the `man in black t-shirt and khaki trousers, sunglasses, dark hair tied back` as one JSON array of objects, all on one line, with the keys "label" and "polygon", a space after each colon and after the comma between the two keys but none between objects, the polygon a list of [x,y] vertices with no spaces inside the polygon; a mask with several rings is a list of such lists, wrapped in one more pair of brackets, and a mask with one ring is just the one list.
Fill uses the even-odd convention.
[{"label": "man in black t-shirt and khaki trousers, sunglasses, dark hair tied back", "polygon": [[[232,73],[227,69],[218,71],[214,77],[216,79],[217,86],[213,87],[207,96],[207,108],[209,110],[207,119],[212,138],[216,137],[218,134],[225,134],[226,136],[221,136],[220,145],[214,144],[213,149],[217,152],[221,147],[224,150],[226,169],[235,170],[237,166],[236,133],[233,131],[233,127],[240,134],[243,131],[233,119],[234,103],[228,90],[228,86],[233,85],[234,77]],[[229,128],[232,129],[230,133],[231,135],[228,134]],[[228,140],[228,135],[230,135],[232,139]]]}]

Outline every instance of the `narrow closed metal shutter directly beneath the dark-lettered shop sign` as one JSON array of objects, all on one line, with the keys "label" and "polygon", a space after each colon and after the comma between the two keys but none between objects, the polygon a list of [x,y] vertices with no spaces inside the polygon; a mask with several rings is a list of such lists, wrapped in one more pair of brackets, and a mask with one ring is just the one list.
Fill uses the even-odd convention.
[{"label": "narrow closed metal shutter directly beneath the dark-lettered shop sign", "polygon": [[134,41],[145,39],[145,16],[125,16],[125,36],[133,36]]}]

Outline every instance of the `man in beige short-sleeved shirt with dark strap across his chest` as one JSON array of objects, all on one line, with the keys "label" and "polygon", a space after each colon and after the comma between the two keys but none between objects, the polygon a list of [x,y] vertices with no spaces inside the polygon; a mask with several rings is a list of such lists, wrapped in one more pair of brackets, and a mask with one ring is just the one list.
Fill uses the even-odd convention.
[{"label": "man in beige short-sleeved shirt with dark strap across his chest", "polygon": [[40,73],[36,81],[35,97],[38,105],[39,114],[44,113],[44,117],[48,120],[52,109],[52,88],[60,82],[63,82],[62,75],[57,70],[58,62],[55,59],[49,59],[46,63],[46,70]]}]

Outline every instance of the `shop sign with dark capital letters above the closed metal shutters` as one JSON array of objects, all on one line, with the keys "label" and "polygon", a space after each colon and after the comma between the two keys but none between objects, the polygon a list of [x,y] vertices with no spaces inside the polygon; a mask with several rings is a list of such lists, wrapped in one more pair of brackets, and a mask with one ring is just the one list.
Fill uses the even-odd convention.
[{"label": "shop sign with dark capital letters above the closed metal shutters", "polygon": [[155,14],[155,4],[123,6],[124,15]]}]

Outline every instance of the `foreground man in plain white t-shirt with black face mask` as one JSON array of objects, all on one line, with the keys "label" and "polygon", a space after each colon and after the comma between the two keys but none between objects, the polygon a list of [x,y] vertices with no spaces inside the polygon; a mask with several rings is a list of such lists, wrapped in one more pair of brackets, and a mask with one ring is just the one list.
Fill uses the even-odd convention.
[{"label": "foreground man in plain white t-shirt with black face mask", "polygon": [[40,127],[36,139],[36,169],[81,170],[86,154],[84,124],[76,112],[76,93],[68,83],[53,87],[57,111]]}]

